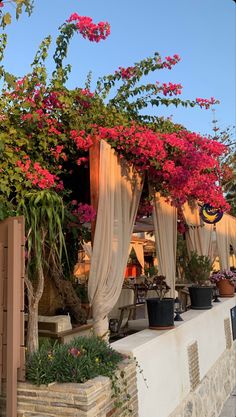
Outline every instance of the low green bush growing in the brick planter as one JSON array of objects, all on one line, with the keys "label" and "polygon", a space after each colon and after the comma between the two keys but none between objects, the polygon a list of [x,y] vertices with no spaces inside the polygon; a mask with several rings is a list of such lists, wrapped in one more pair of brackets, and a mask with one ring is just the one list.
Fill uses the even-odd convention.
[{"label": "low green bush growing in the brick planter", "polygon": [[98,337],[78,337],[65,345],[42,344],[26,355],[26,379],[33,384],[85,382],[98,375],[112,378],[122,355]]}]

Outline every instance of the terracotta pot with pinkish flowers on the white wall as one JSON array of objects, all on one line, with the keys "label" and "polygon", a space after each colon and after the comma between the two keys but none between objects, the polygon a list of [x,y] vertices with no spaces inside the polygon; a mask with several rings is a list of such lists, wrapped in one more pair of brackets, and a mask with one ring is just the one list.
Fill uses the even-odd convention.
[{"label": "terracotta pot with pinkish flowers on the white wall", "polygon": [[236,273],[223,269],[222,271],[213,272],[210,277],[212,283],[216,284],[219,289],[220,297],[233,297],[236,287]]}]

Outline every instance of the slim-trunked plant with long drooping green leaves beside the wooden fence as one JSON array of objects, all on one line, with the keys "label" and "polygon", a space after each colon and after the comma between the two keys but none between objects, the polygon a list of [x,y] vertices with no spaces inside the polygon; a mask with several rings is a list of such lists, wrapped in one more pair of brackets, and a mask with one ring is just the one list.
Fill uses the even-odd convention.
[{"label": "slim-trunked plant with long drooping green leaves beside the wooden fence", "polygon": [[32,191],[24,194],[17,211],[25,216],[26,223],[27,349],[34,352],[38,349],[38,305],[45,275],[49,268],[60,268],[62,252],[66,251],[64,205],[54,191]]}]

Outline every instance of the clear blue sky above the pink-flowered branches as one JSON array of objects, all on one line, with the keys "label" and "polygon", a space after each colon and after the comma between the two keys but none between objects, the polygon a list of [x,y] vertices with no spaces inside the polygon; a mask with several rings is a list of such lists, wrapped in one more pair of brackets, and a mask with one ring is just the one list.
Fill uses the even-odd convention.
[{"label": "clear blue sky above the pink-flowered branches", "polygon": [[[10,7],[10,6],[9,6]],[[220,100],[215,106],[220,128],[236,124],[236,4],[233,0],[35,0],[33,15],[21,17],[7,30],[9,44],[5,66],[24,75],[41,40],[71,13],[91,16],[111,24],[111,35],[93,44],[75,36],[68,61],[73,70],[69,87],[83,86],[89,70],[96,80],[129,66],[155,51],[164,58],[179,54],[171,71],[158,71],[152,81],[180,82],[183,98]],[[53,46],[52,46],[53,51]],[[52,69],[49,59],[48,68]],[[159,116],[202,134],[212,133],[211,110],[159,107]]]}]

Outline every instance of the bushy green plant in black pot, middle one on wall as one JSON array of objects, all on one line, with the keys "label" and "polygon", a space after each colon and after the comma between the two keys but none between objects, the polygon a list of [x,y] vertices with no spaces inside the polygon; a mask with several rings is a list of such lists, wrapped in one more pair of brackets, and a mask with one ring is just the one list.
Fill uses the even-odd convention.
[{"label": "bushy green plant in black pot, middle one on wall", "polygon": [[189,260],[184,265],[185,278],[192,283],[189,287],[191,308],[208,310],[212,308],[213,287],[209,281],[212,265],[208,256],[191,252]]}]

